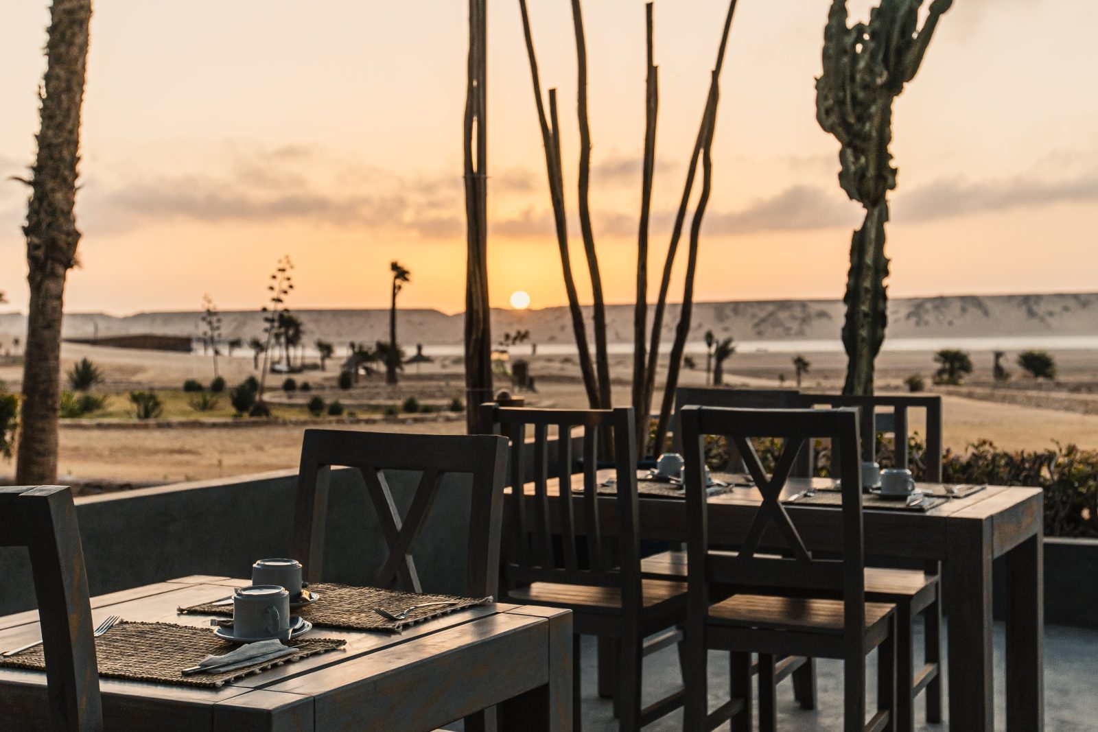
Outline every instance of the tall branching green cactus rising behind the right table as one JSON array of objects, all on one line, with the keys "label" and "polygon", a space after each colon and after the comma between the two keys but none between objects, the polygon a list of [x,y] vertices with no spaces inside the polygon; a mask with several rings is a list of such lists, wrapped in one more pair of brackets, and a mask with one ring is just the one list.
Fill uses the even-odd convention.
[{"label": "tall branching green cactus rising behind the right table", "polygon": [[887,324],[887,193],[892,166],[893,101],[915,78],[942,13],[953,0],[933,0],[919,27],[922,0],[881,0],[869,23],[847,25],[845,0],[832,0],[824,31],[824,74],[816,80],[816,119],[839,140],[839,184],[865,209],[850,244],[847,279],[844,394],[873,393],[873,362]]}]

